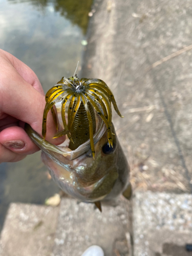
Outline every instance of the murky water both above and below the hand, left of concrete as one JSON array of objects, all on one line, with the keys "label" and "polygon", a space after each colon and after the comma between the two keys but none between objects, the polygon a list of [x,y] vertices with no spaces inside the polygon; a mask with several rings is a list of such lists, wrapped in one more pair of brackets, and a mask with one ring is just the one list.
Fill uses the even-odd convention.
[{"label": "murky water both above and below the hand, left of concrete", "polygon": [[[0,1],[0,48],[25,62],[47,92],[81,60],[92,0]],[[0,164],[0,230],[10,202],[44,203],[58,191],[40,153]]]}]

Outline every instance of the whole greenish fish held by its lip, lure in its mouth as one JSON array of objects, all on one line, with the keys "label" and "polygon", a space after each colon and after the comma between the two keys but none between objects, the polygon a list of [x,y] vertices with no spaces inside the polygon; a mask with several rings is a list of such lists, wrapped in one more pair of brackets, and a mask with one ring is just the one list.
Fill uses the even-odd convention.
[{"label": "whole greenish fish held by its lip, lure in its mouth", "polygon": [[[112,122],[112,104],[122,117],[104,81],[79,79],[74,74],[70,78],[62,77],[47,92],[42,136],[29,124],[25,125],[27,134],[41,149],[41,159],[57,185],[80,201],[94,203],[100,211],[103,200],[114,200],[121,194],[127,199],[132,196],[130,166]],[[50,110],[57,128],[54,138],[67,135],[61,145],[46,140]],[[59,114],[62,131],[58,131]]]}]

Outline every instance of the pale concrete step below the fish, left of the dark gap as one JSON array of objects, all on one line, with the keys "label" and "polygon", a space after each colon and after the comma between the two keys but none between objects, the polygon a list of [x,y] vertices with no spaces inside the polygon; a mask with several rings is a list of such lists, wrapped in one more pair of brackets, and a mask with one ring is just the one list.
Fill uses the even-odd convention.
[{"label": "pale concrete step below the fish, left of the dark gap", "polygon": [[[1,234],[1,256],[80,256],[91,245],[105,256],[129,256],[126,233],[129,208],[121,198],[116,206],[63,198],[60,207],[15,204],[9,207]],[[119,254],[118,254],[119,253]]]}]

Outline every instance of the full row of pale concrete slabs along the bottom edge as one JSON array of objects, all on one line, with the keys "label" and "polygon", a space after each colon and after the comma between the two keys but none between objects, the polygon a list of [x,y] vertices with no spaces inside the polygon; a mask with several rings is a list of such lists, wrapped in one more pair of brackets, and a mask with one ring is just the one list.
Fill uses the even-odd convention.
[{"label": "full row of pale concrete slabs along the bottom edge", "polygon": [[[59,207],[15,204],[1,234],[1,256],[80,256],[99,245],[105,256],[131,256],[131,203],[93,204],[63,198]],[[192,195],[136,193],[133,197],[134,256],[190,256]],[[128,239],[127,239],[128,238]],[[129,247],[129,248],[128,248]]]}]

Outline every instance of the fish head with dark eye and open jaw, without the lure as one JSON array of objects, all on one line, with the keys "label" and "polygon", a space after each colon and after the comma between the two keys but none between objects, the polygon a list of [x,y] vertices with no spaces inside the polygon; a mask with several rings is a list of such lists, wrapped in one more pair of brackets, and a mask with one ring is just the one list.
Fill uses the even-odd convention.
[{"label": "fish head with dark eye and open jaw, without the lure", "polygon": [[84,202],[96,202],[120,195],[129,178],[129,165],[112,125],[113,147],[108,142],[104,123],[94,136],[95,159],[90,141],[71,151],[44,140],[26,124],[26,132],[41,148],[41,158],[53,180],[67,194]]}]

